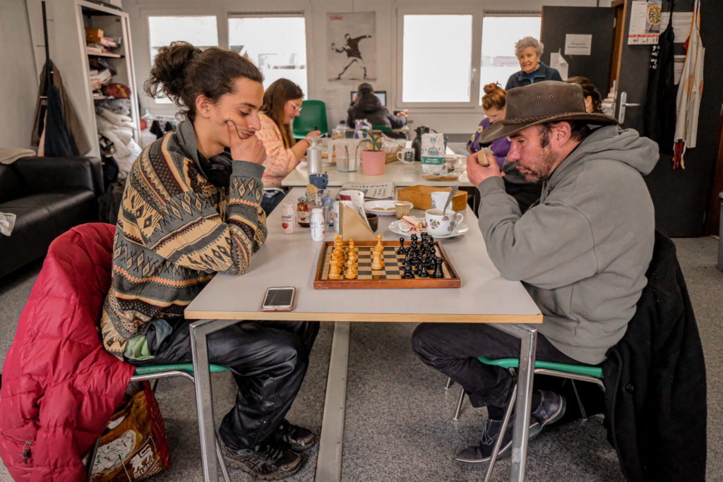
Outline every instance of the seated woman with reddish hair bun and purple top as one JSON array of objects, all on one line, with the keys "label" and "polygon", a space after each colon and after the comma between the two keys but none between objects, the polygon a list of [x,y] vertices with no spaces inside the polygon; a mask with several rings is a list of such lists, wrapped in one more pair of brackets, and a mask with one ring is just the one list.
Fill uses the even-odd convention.
[{"label": "seated woman with reddish hair bun and purple top", "polygon": [[522,212],[525,212],[542,194],[542,183],[529,183],[525,176],[518,170],[515,163],[507,160],[507,153],[510,152],[510,141],[507,137],[501,137],[492,144],[480,144],[479,136],[484,129],[505,119],[505,107],[507,106],[507,91],[502,89],[499,84],[492,83],[483,87],[484,95],[482,96],[482,111],[484,119],[479,123],[477,132],[472,134],[472,138],[467,145],[467,150],[474,154],[482,149],[489,147],[495,155],[497,165],[505,176],[502,181],[505,182],[505,191],[517,200]]}]

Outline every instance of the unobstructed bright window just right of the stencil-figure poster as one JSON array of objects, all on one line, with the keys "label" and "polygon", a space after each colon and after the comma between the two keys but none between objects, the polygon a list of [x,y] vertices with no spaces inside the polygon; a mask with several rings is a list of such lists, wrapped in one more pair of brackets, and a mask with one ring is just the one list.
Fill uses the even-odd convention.
[{"label": "unobstructed bright window just right of the stencil-figure poster", "polygon": [[471,102],[472,15],[404,15],[402,28],[402,102]]}]

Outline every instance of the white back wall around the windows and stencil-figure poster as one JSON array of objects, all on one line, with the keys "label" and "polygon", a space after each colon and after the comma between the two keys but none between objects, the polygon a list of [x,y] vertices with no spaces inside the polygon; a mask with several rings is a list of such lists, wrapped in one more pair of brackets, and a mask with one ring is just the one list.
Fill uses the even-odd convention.
[{"label": "white back wall around the windows and stencil-figure poster", "polygon": [[[601,6],[609,7],[610,0],[602,0]],[[434,9],[471,9],[477,12],[523,11],[539,12],[540,0],[509,0],[501,4],[499,0],[447,0],[440,6],[439,0],[265,0],[263,2],[239,2],[237,0],[206,0],[198,7],[197,0],[123,0],[124,11],[129,13],[136,69],[136,85],[142,86],[150,69],[150,48],[148,46],[148,14],[199,14],[215,13],[221,23],[226,21],[227,12],[299,12],[303,11],[307,19],[307,62],[309,64],[309,92],[307,98],[324,100],[327,104],[329,124],[334,126],[346,119],[349,92],[356,90],[359,81],[334,81],[327,79],[327,53],[330,40],[326,38],[326,14],[328,12],[368,12],[374,10],[377,19],[377,79],[372,82],[376,90],[387,91],[387,106],[390,111],[400,109],[401,95],[397,92],[396,76],[401,71],[397,62],[397,18],[398,9],[414,8]],[[546,5],[564,5],[577,7],[595,7],[597,0],[545,0]],[[219,25],[219,41],[223,45],[226,35],[223,25]],[[283,35],[283,33],[269,33]],[[401,46],[399,46],[401,48]],[[423,61],[420,59],[420,61]],[[155,113],[173,113],[168,106],[155,106],[153,100],[141,97],[141,110],[147,107]],[[412,108],[409,119],[415,125],[432,126],[440,132],[471,133],[476,129],[482,113],[479,108]]]}]

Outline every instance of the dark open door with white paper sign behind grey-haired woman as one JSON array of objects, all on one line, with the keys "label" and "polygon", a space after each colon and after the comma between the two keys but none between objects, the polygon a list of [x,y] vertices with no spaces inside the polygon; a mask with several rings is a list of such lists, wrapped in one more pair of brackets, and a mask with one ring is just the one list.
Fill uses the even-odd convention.
[{"label": "dark open door with white paper sign behind grey-haired woman", "polygon": [[[610,65],[615,12],[609,7],[542,7],[540,41],[544,44],[542,61],[549,65],[552,53],[560,53],[568,62],[568,75],[587,77],[603,98],[609,91]],[[590,35],[589,43],[584,37]],[[573,44],[573,40],[576,40]],[[566,42],[568,49],[565,48]],[[578,53],[586,45],[590,53]],[[575,52],[575,53],[570,53]],[[565,79],[564,73],[562,78]]]}]

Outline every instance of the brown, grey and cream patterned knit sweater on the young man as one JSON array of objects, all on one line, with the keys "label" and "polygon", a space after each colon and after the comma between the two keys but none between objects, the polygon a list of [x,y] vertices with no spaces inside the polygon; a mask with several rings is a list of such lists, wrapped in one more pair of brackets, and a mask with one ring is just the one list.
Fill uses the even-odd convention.
[{"label": "brown, grey and cream patterned knit sweater on the young man", "polygon": [[128,340],[145,336],[154,319],[182,317],[216,272],[247,271],[267,233],[263,169],[234,161],[228,191],[210,184],[189,121],[143,150],[116,225],[111,290],[100,314],[106,350],[122,359]]}]

